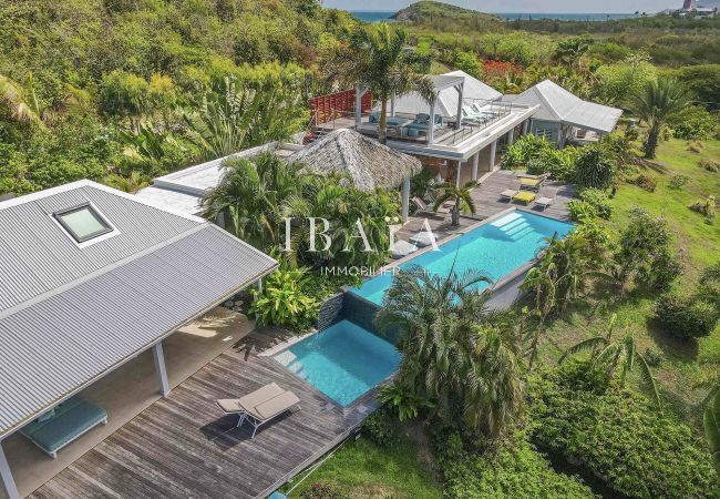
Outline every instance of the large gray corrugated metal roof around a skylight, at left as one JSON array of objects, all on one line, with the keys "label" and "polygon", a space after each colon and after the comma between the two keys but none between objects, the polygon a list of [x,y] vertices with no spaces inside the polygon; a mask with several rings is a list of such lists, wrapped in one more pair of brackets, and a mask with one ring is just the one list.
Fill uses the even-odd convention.
[{"label": "large gray corrugated metal roof around a skylight, at left", "polygon": [[[81,247],[49,213],[86,201],[119,233]],[[0,203],[0,437],[277,265],[88,181]]]}]

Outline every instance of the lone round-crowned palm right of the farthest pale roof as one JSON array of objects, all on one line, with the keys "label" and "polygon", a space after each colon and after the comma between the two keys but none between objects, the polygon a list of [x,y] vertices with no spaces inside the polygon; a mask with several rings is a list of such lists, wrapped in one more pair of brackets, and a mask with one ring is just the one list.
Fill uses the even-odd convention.
[{"label": "lone round-crowned palm right of the farthest pale roof", "polygon": [[659,78],[649,82],[632,102],[632,109],[640,120],[648,123],[648,138],[642,145],[645,157],[654,160],[660,132],[672,114],[682,111],[690,103],[688,90],[677,80]]}]

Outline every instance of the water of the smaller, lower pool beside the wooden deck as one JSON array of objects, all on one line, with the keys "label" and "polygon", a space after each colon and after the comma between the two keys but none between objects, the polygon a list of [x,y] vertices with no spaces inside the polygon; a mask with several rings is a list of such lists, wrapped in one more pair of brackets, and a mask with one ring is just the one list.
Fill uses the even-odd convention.
[{"label": "water of the smaller, lower pool beside the wooden deck", "polygon": [[401,356],[381,337],[341,320],[274,358],[344,407],[393,374]]}]

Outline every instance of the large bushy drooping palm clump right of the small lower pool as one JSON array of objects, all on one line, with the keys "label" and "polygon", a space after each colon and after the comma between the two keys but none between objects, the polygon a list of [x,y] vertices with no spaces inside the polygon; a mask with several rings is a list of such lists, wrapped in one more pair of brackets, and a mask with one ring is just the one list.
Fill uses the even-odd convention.
[{"label": "large bushy drooping palm clump right of the small lower pool", "polygon": [[517,342],[494,325],[488,295],[477,292],[482,283],[490,279],[477,271],[442,277],[403,269],[376,323],[399,335],[395,405],[428,407],[448,426],[462,421],[496,436],[518,413],[522,385]]}]

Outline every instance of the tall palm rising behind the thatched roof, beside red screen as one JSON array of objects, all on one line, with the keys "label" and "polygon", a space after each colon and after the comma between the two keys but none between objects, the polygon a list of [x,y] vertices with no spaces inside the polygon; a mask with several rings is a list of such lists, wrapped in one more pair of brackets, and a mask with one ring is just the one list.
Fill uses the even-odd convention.
[{"label": "tall palm rising behind the thatched roof, beside red screen", "polygon": [[408,32],[402,28],[387,22],[360,27],[323,63],[331,78],[367,89],[380,101],[378,138],[383,144],[388,140],[388,101],[393,95],[415,91],[428,102],[435,99],[432,80],[415,73],[405,60],[407,45]]}]

